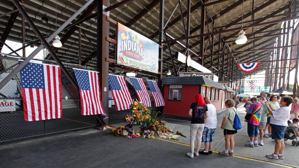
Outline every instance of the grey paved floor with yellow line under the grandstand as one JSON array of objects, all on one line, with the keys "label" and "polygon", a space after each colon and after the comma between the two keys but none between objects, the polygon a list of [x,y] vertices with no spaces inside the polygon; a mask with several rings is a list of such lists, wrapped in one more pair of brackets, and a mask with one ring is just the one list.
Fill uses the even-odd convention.
[{"label": "grey paved floor with yellow line under the grandstand", "polygon": [[[239,117],[244,118],[243,103],[238,107]],[[271,159],[265,155],[274,152],[274,140],[264,138],[265,146],[247,147],[247,123],[235,135],[235,156],[223,156],[223,131],[220,129],[222,112],[217,115],[218,126],[214,136],[212,155],[194,155],[190,152],[190,121],[168,119],[168,127],[182,132],[187,138],[176,140],[162,138],[120,138],[103,135],[109,131],[93,128],[78,131],[4,142],[0,144],[1,167],[299,167],[299,146],[285,141],[285,159]],[[114,126],[125,126],[117,123]],[[201,147],[204,147],[202,144]]]}]

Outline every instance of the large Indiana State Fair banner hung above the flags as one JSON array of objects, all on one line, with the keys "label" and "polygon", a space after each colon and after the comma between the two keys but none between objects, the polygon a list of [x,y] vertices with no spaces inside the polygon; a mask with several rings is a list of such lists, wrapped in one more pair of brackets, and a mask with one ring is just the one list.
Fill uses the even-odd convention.
[{"label": "large Indiana State Fair banner hung above the flags", "polygon": [[159,45],[118,23],[117,63],[158,74]]}]

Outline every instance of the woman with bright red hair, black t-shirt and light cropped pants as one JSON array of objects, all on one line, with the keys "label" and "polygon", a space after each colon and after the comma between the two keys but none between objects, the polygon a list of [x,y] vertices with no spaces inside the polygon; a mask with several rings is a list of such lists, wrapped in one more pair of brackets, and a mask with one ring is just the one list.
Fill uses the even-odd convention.
[{"label": "woman with bright red hair, black t-shirt and light cropped pants", "polygon": [[[196,94],[194,103],[191,104],[189,115],[192,116],[190,125],[190,148],[191,152],[187,156],[193,158],[193,153],[198,156],[200,145],[202,144],[202,132],[205,128],[205,119],[208,117],[208,106],[201,94]],[[194,151],[194,141],[197,141],[196,151]]]}]

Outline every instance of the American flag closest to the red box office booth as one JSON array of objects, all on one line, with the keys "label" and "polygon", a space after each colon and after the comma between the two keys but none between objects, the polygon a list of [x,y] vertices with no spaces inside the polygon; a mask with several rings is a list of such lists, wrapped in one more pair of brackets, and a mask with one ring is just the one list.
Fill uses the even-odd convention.
[{"label": "American flag closest to the red box office booth", "polygon": [[149,85],[149,89],[152,92],[152,97],[154,98],[155,107],[165,106],[165,102],[162,97],[161,91],[158,87],[158,83],[153,80],[147,80],[147,84]]}]

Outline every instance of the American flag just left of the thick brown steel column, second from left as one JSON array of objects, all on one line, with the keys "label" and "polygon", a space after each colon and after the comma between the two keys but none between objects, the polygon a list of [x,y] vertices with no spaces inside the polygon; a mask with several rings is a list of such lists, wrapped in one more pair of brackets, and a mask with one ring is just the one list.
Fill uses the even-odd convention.
[{"label": "American flag just left of the thick brown steel column, second from left", "polygon": [[81,114],[104,114],[101,100],[100,73],[82,69],[74,69],[79,85]]}]

